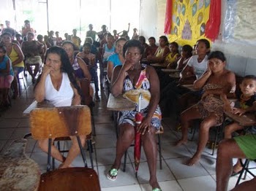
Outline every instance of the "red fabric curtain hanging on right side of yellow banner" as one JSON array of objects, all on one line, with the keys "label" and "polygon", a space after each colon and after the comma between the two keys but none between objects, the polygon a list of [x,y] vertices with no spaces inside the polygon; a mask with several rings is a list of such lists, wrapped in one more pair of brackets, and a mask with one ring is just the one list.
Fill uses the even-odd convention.
[{"label": "red fabric curtain hanging on right side of yellow banner", "polygon": [[[221,21],[222,2],[221,0],[211,1],[209,20],[206,23],[206,37],[214,41],[219,34],[219,26]],[[166,20],[166,19],[165,19]]]}]

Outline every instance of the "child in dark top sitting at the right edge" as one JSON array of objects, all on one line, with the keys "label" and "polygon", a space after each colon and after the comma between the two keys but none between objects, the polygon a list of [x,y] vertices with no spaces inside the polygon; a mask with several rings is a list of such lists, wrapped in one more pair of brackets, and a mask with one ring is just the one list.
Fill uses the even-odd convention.
[{"label": "child in dark top sitting at the right edge", "polygon": [[[240,84],[241,91],[238,92],[237,106],[232,109],[234,114],[244,114],[246,112],[253,112],[256,110],[256,77],[254,75],[248,75],[244,77],[243,81]],[[255,126],[244,127],[238,124],[238,122],[233,122],[230,125],[227,125],[225,128],[225,139],[231,139],[232,133],[236,130],[245,130],[249,133],[256,133]],[[232,176],[239,174],[242,169],[241,163],[239,160],[236,165],[233,166]]]}]

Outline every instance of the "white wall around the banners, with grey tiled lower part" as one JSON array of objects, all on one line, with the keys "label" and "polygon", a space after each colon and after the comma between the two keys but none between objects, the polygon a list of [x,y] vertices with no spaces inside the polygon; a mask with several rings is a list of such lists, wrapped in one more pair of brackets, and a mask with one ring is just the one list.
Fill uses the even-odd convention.
[{"label": "white wall around the banners, with grey tiled lower part", "polygon": [[[225,43],[222,41],[222,31],[225,23],[225,5],[222,1],[222,23],[219,38],[212,44],[211,50],[220,50],[227,57],[227,68],[240,76],[256,75],[256,47],[250,44]],[[256,5],[255,5],[256,6]],[[141,8],[141,35],[146,39],[154,36],[158,39],[163,35],[165,26],[166,0],[142,0]]]}]

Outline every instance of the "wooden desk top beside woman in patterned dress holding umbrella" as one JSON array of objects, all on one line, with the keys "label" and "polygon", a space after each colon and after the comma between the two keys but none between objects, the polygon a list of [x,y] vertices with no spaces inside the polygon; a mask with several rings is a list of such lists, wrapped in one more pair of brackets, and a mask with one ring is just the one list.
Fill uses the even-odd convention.
[{"label": "wooden desk top beside woman in patterned dress holding umbrella", "polygon": [[114,97],[112,93],[110,93],[107,109],[111,111],[132,111],[135,109],[135,104],[127,98],[124,98],[122,95]]}]

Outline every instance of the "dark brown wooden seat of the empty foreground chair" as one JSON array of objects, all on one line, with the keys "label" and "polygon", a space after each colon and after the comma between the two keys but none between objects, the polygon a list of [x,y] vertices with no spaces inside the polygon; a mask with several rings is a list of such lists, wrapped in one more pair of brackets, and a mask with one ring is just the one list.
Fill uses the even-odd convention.
[{"label": "dark brown wooden seat of the empty foreground chair", "polygon": [[39,191],[99,191],[99,177],[91,168],[61,168],[41,175]]}]

